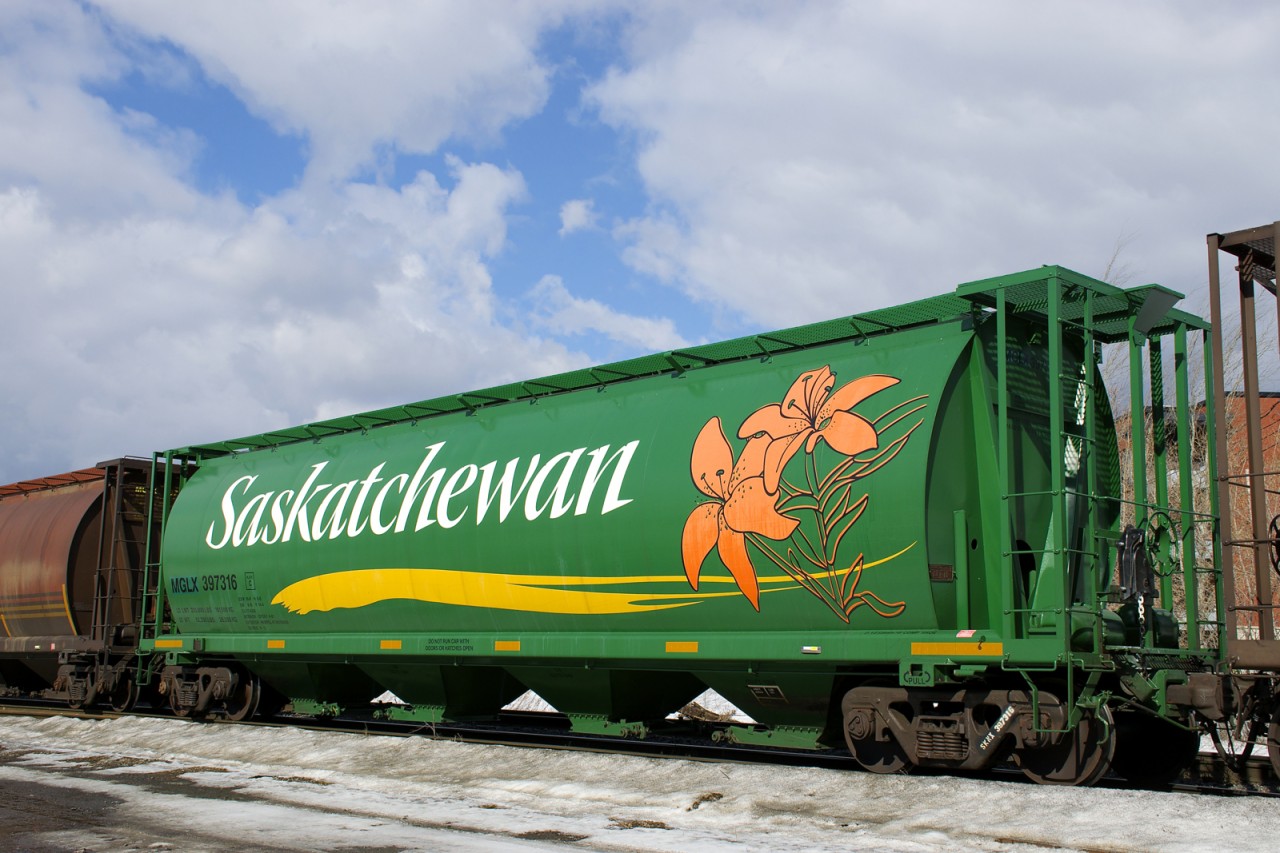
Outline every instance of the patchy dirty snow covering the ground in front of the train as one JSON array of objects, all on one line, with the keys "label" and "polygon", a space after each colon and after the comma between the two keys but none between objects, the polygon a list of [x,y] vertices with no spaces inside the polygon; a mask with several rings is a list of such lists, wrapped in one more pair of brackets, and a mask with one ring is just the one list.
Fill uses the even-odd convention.
[{"label": "patchy dirty snow covering the ground in front of the train", "polygon": [[41,824],[18,843],[36,850],[1252,850],[1280,838],[1263,799],[159,719],[3,717],[0,786],[119,800],[92,825]]}]

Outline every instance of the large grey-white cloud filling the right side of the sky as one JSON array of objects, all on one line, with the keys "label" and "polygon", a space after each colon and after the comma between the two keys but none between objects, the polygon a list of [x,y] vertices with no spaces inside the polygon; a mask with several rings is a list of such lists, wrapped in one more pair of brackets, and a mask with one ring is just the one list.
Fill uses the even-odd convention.
[{"label": "large grey-white cloud filling the right side of the sky", "polygon": [[[1187,3],[637,9],[589,99],[639,143],[635,269],[777,325],[1061,263],[1116,238],[1175,287],[1204,232],[1274,219],[1253,109],[1280,9]],[[1239,122],[1248,126],[1240,132]]]}]

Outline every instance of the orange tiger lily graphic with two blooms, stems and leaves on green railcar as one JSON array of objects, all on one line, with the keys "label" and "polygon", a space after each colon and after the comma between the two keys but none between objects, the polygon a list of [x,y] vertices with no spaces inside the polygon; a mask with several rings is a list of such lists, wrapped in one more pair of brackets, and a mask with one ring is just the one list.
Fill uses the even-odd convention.
[{"label": "orange tiger lily graphic with two blooms, stems and leaves on green railcar", "polygon": [[[690,474],[712,500],[685,520],[681,557],[689,584],[698,589],[714,548],[755,610],[760,610],[760,583],[753,555],[782,570],[845,622],[864,606],[883,617],[901,613],[905,601],[886,601],[860,588],[868,564],[849,544],[856,543],[852,530],[870,501],[869,493],[859,496],[858,483],[891,462],[924,423],[909,420],[924,410],[924,397],[892,405],[876,419],[852,411],[896,384],[896,377],[869,374],[836,388],[829,365],[806,370],[781,403],[756,409],[742,421],[737,438],[746,444],[736,462],[721,419],[703,424]],[[819,453],[819,442],[832,452]],[[803,470],[783,479],[801,447]]]}]

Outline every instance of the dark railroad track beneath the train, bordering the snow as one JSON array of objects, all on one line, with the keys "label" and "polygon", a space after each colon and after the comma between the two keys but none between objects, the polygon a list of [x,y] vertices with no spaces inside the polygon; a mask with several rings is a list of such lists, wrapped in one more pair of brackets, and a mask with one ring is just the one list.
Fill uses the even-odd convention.
[{"label": "dark railroad track beneath the train, bordering the snow", "polygon": [[[77,711],[68,708],[60,702],[13,698],[0,702],[0,715],[64,716],[84,720],[129,716],[178,719],[168,710],[151,711],[137,708],[128,713],[102,710]],[[209,720],[206,722],[220,721]],[[497,722],[486,724],[428,724],[383,720],[372,713],[342,715],[337,717],[279,713],[269,720],[243,721],[229,725],[294,727],[312,731],[398,738],[443,738],[463,743],[503,747],[536,747],[543,749],[572,749],[576,752],[600,752],[639,757],[684,758],[687,761],[771,763],[788,767],[819,767],[864,772],[858,762],[845,751],[812,752],[782,747],[713,743],[710,738],[712,733],[723,729],[724,725],[700,720],[677,721],[672,726],[672,731],[650,734],[643,739],[573,733],[570,731],[570,724],[566,717],[558,713],[538,711],[506,711],[499,716]],[[946,775],[938,771],[919,768],[914,772],[919,775]],[[1011,765],[998,766],[973,777],[997,779],[1000,781],[1028,785],[1034,784]],[[1151,788],[1133,785],[1128,780],[1115,775],[1103,777],[1098,783],[1098,786],[1123,790],[1152,790]],[[1202,752],[1196,765],[1185,771],[1180,779],[1171,785],[1156,790],[1224,797],[1280,798],[1280,784],[1271,780],[1271,763],[1265,756],[1248,756],[1238,760],[1233,766],[1222,756],[1211,752]]]}]

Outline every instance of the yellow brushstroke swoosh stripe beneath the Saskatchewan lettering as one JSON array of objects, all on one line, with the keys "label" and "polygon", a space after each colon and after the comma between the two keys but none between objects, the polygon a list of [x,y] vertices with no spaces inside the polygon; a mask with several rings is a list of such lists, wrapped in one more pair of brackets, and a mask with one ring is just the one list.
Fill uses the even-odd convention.
[{"label": "yellow brushstroke swoosh stripe beneath the Saskatchewan lettering", "polygon": [[[913,543],[914,546],[914,543]],[[888,562],[913,546],[869,566]],[[846,574],[849,569],[836,573]],[[618,587],[635,584],[686,583],[684,575],[641,575],[626,578],[589,578],[563,575],[513,575],[452,569],[355,569],[305,578],[289,584],[271,599],[294,613],[367,607],[380,601],[422,601],[461,607],[489,607],[532,613],[611,615],[643,613],[655,610],[689,607],[708,598],[737,596],[728,592],[646,593],[599,592],[573,587]],[[732,578],[704,576],[704,584],[732,584]],[[796,588],[787,575],[760,578],[760,584],[786,584],[763,592]]]}]

